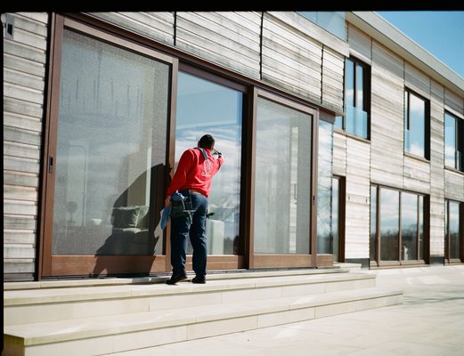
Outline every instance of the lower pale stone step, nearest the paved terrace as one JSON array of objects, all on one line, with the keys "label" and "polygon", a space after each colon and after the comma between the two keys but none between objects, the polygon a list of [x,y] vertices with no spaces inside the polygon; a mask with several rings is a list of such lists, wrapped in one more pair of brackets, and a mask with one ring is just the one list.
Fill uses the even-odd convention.
[{"label": "lower pale stone step, nearest the paved terrace", "polygon": [[370,287],[322,295],[134,312],[4,328],[4,355],[85,356],[128,352],[402,303]]}]

